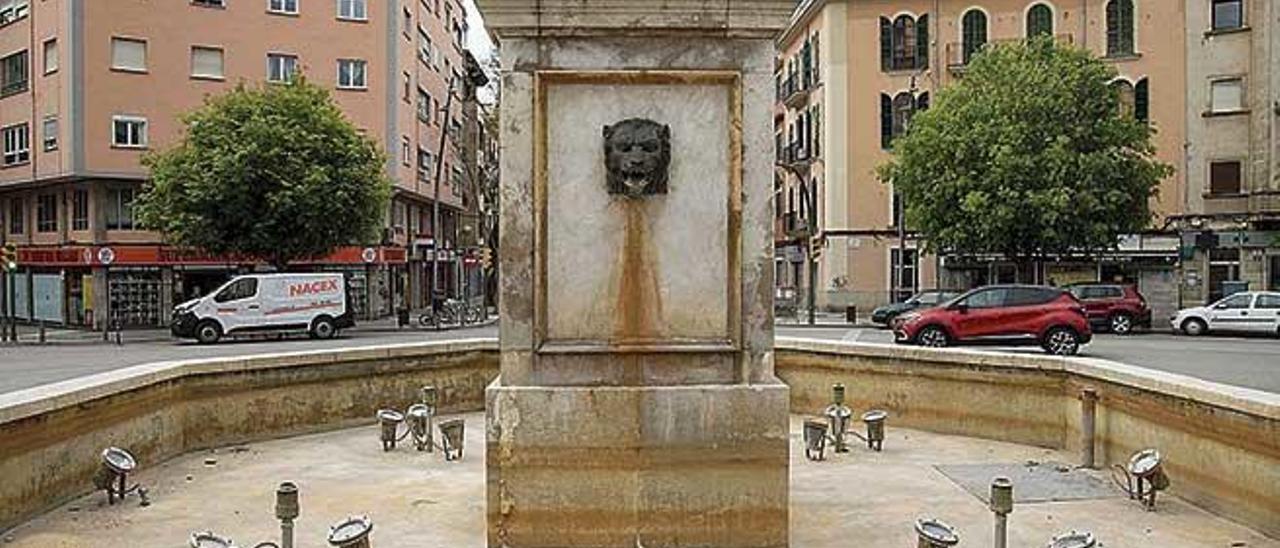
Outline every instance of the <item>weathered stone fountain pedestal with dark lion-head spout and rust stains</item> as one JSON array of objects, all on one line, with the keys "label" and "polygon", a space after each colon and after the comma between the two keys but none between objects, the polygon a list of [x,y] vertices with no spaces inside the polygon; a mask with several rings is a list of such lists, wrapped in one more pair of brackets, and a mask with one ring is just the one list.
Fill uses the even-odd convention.
[{"label": "weathered stone fountain pedestal with dark lion-head spout and rust stains", "polygon": [[489,545],[786,545],[772,38],[794,3],[477,4],[503,65]]}]

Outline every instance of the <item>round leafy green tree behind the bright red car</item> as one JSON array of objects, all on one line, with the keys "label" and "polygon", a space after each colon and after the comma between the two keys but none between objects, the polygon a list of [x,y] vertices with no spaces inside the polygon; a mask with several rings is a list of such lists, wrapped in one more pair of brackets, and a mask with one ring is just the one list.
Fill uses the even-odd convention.
[{"label": "round leafy green tree behind the bright red car", "polygon": [[933,251],[1029,261],[1147,228],[1172,168],[1121,114],[1116,72],[1052,38],[998,45],[938,93],[878,168]]}]

